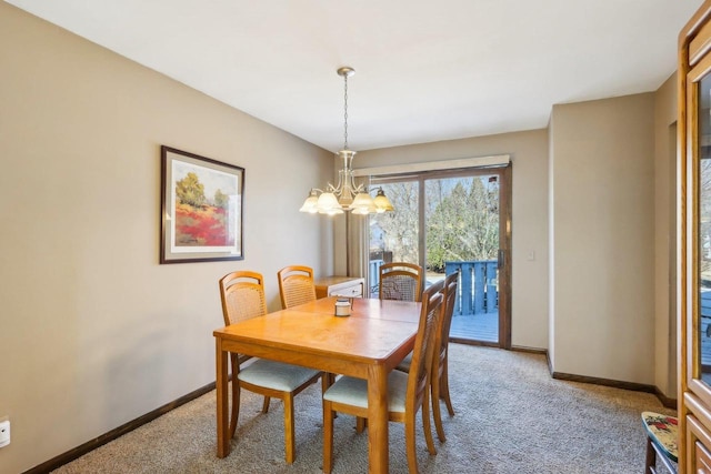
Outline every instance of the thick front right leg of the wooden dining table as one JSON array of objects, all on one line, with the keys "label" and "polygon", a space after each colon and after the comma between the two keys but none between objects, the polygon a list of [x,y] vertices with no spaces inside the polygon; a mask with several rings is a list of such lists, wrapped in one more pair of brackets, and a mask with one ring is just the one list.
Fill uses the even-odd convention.
[{"label": "thick front right leg of the wooden dining table", "polygon": [[388,372],[382,365],[369,369],[368,466],[371,474],[384,474],[389,464]]}]

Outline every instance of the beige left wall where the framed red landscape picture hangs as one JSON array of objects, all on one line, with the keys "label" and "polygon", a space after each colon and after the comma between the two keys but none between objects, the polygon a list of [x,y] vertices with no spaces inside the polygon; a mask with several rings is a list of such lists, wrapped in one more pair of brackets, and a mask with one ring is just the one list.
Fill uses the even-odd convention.
[{"label": "beige left wall where the framed red landscape picture hangs", "polygon": [[[332,155],[0,2],[0,471],[214,381],[218,279],[332,269]],[[246,168],[244,261],[158,264],[160,145]]]}]

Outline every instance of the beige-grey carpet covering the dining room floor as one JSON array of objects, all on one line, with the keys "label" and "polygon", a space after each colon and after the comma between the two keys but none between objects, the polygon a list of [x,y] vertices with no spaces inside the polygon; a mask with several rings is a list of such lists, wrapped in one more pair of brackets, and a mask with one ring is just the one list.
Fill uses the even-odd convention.
[{"label": "beige-grey carpet covering the dining room floor", "polygon": [[[418,433],[422,473],[642,473],[642,411],[674,414],[654,395],[550,377],[542,355],[450,345],[457,415],[444,415],[438,455]],[[232,453],[216,456],[214,392],[111,442],[54,473],[320,473],[320,385],[296,399],[297,460],[284,464],[283,412],[243,392]],[[442,406],[443,407],[443,406]],[[443,413],[447,410],[443,407]],[[334,473],[368,472],[368,432],[336,420]],[[390,424],[390,472],[407,473],[402,425]]]}]

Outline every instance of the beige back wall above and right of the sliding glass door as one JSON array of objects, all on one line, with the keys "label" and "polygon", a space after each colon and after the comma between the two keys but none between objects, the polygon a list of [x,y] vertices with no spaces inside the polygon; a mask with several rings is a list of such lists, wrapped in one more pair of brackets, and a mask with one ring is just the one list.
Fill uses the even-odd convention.
[{"label": "beige back wall above and right of the sliding glass door", "polygon": [[[512,199],[513,345],[547,349],[548,341],[548,133],[504,133],[361,151],[354,168],[510,154]],[[535,260],[528,260],[534,252]],[[337,261],[338,265],[338,261]]]}]

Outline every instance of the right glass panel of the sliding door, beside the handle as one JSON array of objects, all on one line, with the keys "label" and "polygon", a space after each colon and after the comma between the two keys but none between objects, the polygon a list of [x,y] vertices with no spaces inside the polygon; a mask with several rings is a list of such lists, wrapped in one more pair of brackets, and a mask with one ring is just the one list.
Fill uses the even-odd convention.
[{"label": "right glass panel of the sliding door, beside the handle", "polygon": [[499,342],[499,177],[424,181],[425,271],[434,282],[459,272],[450,336]]}]

